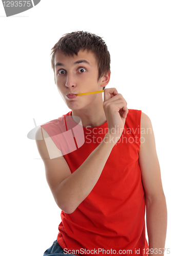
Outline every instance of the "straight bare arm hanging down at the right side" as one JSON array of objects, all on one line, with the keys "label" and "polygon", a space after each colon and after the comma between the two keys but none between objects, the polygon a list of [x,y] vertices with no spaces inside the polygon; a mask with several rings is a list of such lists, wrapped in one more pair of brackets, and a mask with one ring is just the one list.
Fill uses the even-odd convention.
[{"label": "straight bare arm hanging down at the right side", "polygon": [[[164,135],[161,131],[161,138]],[[146,200],[149,253],[163,255],[167,229],[167,209],[163,192],[153,127],[148,116],[141,115],[139,163]]]}]

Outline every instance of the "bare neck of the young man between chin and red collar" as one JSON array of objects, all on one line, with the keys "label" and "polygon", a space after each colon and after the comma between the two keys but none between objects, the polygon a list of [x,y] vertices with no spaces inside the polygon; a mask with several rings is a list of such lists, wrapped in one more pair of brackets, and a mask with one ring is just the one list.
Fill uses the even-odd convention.
[{"label": "bare neck of the young man between chin and red collar", "polygon": [[78,116],[81,118],[82,125],[84,127],[91,126],[97,127],[106,122],[106,116],[103,109],[103,99],[101,99],[98,104],[92,106],[87,106],[86,108],[80,110],[72,110],[72,116]]}]

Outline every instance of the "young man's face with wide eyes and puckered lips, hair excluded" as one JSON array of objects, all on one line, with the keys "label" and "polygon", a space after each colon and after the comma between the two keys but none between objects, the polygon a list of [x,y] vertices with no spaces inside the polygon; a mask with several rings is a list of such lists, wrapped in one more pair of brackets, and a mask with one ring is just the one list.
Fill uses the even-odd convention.
[{"label": "young man's face with wide eyes and puckered lips, hair excluded", "polygon": [[69,95],[102,90],[104,77],[98,81],[98,64],[91,51],[79,51],[78,55],[68,56],[56,51],[55,59],[56,86],[71,110],[86,108],[94,100],[102,99],[102,94]]}]

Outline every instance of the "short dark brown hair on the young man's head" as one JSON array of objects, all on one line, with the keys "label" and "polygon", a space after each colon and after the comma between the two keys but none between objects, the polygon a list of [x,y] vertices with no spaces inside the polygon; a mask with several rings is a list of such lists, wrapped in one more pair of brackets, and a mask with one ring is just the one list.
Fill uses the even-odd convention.
[{"label": "short dark brown hair on the young man's head", "polygon": [[92,51],[96,56],[98,63],[99,76],[98,80],[107,72],[110,71],[110,54],[105,44],[105,41],[95,34],[84,31],[75,31],[63,35],[51,49],[51,66],[54,72],[54,56],[56,51],[61,51],[64,54],[73,56],[78,55],[80,50]]}]

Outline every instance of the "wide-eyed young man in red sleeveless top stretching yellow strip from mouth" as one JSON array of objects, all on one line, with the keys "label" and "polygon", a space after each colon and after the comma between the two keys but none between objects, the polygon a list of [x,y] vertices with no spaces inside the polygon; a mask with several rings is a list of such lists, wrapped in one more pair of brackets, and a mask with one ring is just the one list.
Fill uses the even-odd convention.
[{"label": "wide-eyed young man in red sleeveless top stretching yellow strip from mouth", "polygon": [[[44,255],[163,254],[167,211],[149,118],[128,111],[116,88],[104,89],[104,101],[102,93],[75,95],[100,91],[110,80],[110,54],[101,37],[66,34],[51,54],[56,86],[71,111],[41,125],[36,134],[43,136],[37,148],[62,210],[58,241]],[[81,132],[66,139],[68,117],[83,126],[81,146]]]}]

